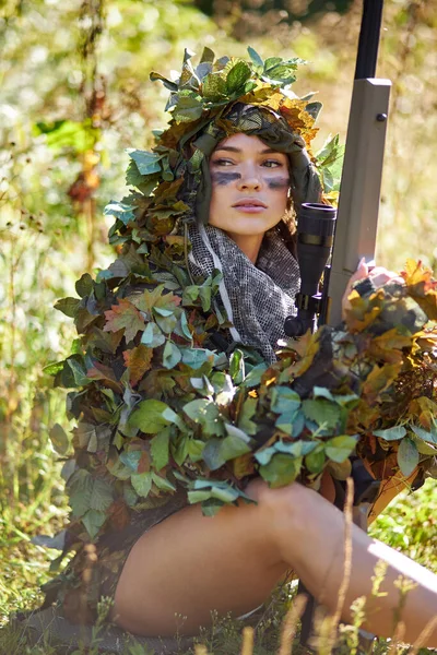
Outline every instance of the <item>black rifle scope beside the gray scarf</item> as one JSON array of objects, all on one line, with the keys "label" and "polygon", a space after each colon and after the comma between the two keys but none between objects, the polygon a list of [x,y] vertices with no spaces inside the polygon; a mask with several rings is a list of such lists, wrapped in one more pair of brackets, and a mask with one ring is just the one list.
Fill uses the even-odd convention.
[{"label": "black rifle scope beside the gray scarf", "polygon": [[[316,314],[326,313],[319,283],[324,271],[323,288],[327,289],[327,261],[332,249],[335,218],[335,207],[321,203],[304,203],[298,212],[297,262],[300,290],[296,296],[297,315],[285,319],[284,330],[287,336],[300,336],[307,330],[314,332]],[[320,318],[323,319],[322,315]]]}]

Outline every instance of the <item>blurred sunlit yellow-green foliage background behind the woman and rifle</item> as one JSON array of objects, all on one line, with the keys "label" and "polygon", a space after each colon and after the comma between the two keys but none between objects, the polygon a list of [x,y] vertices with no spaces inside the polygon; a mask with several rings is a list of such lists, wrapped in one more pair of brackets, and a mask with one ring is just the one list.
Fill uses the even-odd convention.
[{"label": "blurred sunlit yellow-green foliage background behind the woman and rifle", "polygon": [[[49,432],[71,426],[44,367],[74,334],[52,306],[114,257],[103,206],[125,192],[125,148],[149,147],[164,121],[167,92],[150,71],[179,70],[185,47],[302,57],[294,88],[324,104],[316,146],[344,140],[361,10],[358,0],[1,0],[0,622],[40,599],[49,562],[29,539],[66,513]],[[436,28],[437,0],[386,0],[378,74],[393,90],[378,262],[393,269],[408,257],[436,267]],[[376,534],[436,569],[430,490],[398,501]]]}]

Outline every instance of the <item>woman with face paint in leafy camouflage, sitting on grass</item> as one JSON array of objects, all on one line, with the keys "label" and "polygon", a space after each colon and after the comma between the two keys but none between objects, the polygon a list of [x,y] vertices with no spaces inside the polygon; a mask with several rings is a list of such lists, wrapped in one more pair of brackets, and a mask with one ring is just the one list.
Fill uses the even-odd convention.
[{"label": "woman with face paint in leafy camouflage, sitting on grass", "polygon": [[[131,154],[128,183],[142,193],[109,207],[121,255],[95,283],[79,283],[83,352],[58,376],[67,386],[84,384],[69,405],[80,419],[78,466],[67,481],[78,553],[51,587],[75,620],[92,621],[104,594],[126,630],[173,635],[176,612],[187,617],[181,632],[194,634],[213,609],[239,616],[262,604],[290,569],[336,607],[344,516],[331,504],[329,457],[323,451],[319,464],[304,460],[304,446],[299,456],[292,450],[302,438],[305,452],[320,455],[327,437],[341,434],[340,419],[327,431],[308,413],[290,417],[300,398],[284,376],[293,369],[293,386],[304,373],[275,355],[299,285],[291,206],[321,199],[306,150],[318,107],[286,91],[294,61],[268,62],[262,71],[214,63],[205,51],[197,69],[186,56],[178,83],[164,81],[170,127],[153,153]],[[367,275],[363,262],[351,284]],[[370,277],[404,282],[379,269]],[[358,386],[356,376],[343,376],[341,393]],[[346,439],[344,465],[355,445]],[[416,584],[402,614],[405,640],[414,641],[437,612],[437,576],[357,527],[352,546],[342,618],[370,594],[382,560],[386,595],[369,598],[365,627],[391,634],[393,583],[403,574]]]}]

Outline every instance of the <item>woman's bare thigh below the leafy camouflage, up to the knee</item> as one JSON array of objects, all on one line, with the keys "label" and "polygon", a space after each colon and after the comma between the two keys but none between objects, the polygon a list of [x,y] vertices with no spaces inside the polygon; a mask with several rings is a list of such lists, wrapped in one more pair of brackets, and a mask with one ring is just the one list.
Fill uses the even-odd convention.
[{"label": "woman's bare thigh below the leafy camouflage, up to the knee", "polygon": [[[255,480],[249,495],[269,493]],[[269,502],[224,507],[203,516],[187,507],[144,534],[131,550],[115,595],[114,619],[137,634],[194,634],[211,611],[246,614],[285,575]],[[187,617],[181,624],[175,615]],[[179,623],[179,626],[178,626]]]}]

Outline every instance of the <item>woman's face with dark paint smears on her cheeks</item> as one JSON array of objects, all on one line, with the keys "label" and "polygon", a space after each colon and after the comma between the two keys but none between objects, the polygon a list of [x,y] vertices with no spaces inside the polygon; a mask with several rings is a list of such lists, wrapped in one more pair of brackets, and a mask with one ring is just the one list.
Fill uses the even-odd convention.
[{"label": "woman's face with dark paint smears on her cheeks", "polygon": [[212,196],[209,224],[231,237],[259,236],[274,227],[287,206],[288,159],[258,136],[233,134],[210,160]]}]

